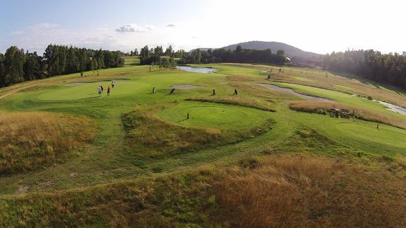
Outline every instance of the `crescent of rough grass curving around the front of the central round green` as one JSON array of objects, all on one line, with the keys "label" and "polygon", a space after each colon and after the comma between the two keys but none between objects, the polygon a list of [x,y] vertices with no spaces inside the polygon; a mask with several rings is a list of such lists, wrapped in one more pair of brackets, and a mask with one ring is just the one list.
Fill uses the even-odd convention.
[{"label": "crescent of rough grass curving around the front of the central round green", "polygon": [[182,127],[156,118],[158,108],[138,107],[122,116],[128,147],[141,155],[157,158],[241,142],[268,132],[273,124],[268,120],[264,125],[238,131]]}]

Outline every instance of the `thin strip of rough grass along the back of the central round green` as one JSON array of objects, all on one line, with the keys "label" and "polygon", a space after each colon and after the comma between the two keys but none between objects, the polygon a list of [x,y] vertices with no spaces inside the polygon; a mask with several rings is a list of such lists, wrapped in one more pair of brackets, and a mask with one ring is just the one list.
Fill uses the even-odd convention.
[{"label": "thin strip of rough grass along the back of the central round green", "polygon": [[212,103],[224,103],[234,106],[243,106],[248,108],[256,108],[259,110],[265,110],[269,112],[275,112],[271,107],[272,103],[268,101],[262,101],[260,99],[253,99],[242,96],[212,96],[203,98],[187,98],[185,101],[202,101],[202,102],[212,102]]}]

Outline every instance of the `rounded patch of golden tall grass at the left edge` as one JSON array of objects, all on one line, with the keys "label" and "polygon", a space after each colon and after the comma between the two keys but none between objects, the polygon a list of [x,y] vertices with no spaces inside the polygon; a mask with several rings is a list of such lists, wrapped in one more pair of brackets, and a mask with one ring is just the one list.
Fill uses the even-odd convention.
[{"label": "rounded patch of golden tall grass at the left edge", "polygon": [[0,113],[0,173],[50,166],[89,142],[92,121],[55,113]]}]

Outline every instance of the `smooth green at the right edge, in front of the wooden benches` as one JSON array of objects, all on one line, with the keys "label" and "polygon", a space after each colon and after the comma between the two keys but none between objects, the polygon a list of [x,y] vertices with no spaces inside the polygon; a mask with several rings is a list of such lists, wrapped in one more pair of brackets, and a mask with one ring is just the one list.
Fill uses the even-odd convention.
[{"label": "smooth green at the right edge, in front of the wooden benches", "polygon": [[353,137],[406,148],[406,130],[397,127],[380,124],[378,130],[376,124],[371,122],[340,122],[336,124],[336,128]]}]

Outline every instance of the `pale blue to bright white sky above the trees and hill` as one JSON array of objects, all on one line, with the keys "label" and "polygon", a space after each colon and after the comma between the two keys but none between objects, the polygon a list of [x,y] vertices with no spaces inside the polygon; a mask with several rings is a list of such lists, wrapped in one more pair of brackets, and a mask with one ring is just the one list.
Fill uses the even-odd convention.
[{"label": "pale blue to bright white sky above the trees and hill", "polygon": [[42,53],[50,43],[129,51],[285,42],[325,54],[406,51],[403,1],[1,0],[0,52]]}]

